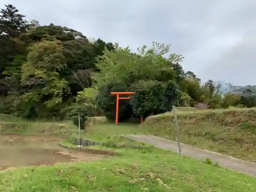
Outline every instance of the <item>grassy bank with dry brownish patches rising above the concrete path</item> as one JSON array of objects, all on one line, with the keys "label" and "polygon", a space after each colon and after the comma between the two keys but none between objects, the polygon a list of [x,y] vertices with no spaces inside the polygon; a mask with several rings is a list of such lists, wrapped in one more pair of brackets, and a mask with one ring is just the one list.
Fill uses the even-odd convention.
[{"label": "grassy bank with dry brownish patches rising above the concrete path", "polygon": [[[256,162],[256,109],[178,111],[181,142]],[[176,139],[173,113],[151,116],[147,133]]]}]

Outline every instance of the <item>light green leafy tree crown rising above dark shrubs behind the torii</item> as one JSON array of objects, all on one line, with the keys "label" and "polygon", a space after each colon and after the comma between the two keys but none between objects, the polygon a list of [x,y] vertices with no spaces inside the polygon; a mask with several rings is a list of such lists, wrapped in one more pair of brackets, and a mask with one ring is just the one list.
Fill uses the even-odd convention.
[{"label": "light green leafy tree crown rising above dark shrubs behind the torii", "polygon": [[175,79],[175,71],[170,65],[176,57],[163,57],[169,51],[169,46],[153,42],[152,48],[138,48],[138,53],[130,49],[115,46],[115,51],[104,51],[99,57],[97,67],[100,73],[94,74],[96,86],[112,81],[133,84],[139,80],[168,81]]}]

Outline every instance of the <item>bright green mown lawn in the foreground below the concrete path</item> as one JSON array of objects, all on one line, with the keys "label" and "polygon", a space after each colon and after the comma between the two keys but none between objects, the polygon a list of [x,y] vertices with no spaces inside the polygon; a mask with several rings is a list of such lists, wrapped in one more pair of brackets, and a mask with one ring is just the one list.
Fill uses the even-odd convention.
[{"label": "bright green mown lawn in the foreground below the concrete path", "polygon": [[122,157],[0,173],[5,192],[255,191],[256,179],[177,154],[119,149]]}]

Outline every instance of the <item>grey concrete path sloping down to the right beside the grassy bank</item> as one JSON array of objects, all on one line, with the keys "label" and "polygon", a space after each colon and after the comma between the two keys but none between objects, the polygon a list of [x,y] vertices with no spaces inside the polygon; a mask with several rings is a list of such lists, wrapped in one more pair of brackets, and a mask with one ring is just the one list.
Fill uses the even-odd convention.
[{"label": "grey concrete path sloping down to the right beside the grassy bank", "polygon": [[[153,135],[124,135],[124,137],[178,153],[178,144],[175,141],[163,139]],[[218,162],[222,167],[237,170],[238,172],[256,177],[256,163],[221,155],[215,152],[201,150],[199,148],[182,143],[181,152],[183,155],[195,159],[203,160],[204,158],[209,158],[214,162]]]}]

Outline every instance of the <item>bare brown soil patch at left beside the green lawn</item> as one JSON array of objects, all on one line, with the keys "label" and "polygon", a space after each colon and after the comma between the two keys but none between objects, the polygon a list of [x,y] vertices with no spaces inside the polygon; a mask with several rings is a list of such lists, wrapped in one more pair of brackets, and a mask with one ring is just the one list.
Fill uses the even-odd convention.
[{"label": "bare brown soil patch at left beside the green lawn", "polygon": [[62,148],[61,138],[42,135],[0,135],[0,169],[10,167],[53,165],[63,162],[96,161],[102,153]]}]

